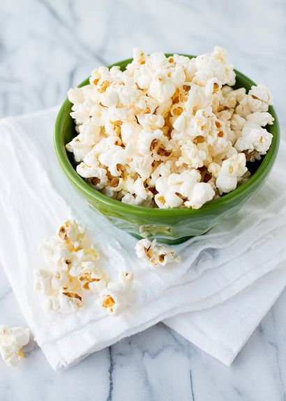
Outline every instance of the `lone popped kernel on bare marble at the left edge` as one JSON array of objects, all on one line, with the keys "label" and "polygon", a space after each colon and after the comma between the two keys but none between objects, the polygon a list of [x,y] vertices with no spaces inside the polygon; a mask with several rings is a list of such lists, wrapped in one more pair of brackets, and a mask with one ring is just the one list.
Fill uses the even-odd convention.
[{"label": "lone popped kernel on bare marble at the left edge", "polygon": [[24,358],[22,347],[28,344],[29,337],[29,328],[0,326],[0,354],[8,366],[16,367]]}]

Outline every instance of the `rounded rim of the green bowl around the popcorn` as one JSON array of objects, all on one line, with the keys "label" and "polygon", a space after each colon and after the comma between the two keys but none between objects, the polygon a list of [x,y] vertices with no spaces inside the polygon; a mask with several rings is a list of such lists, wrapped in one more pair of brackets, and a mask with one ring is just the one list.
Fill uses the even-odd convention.
[{"label": "rounded rim of the green bowl around the popcorn", "polygon": [[[165,53],[166,57],[170,57],[174,54],[179,54],[179,53]],[[190,59],[196,57],[191,54],[179,54],[179,55],[186,56]],[[120,66],[125,68],[125,66],[129,64],[132,60],[133,59],[131,58],[131,59],[124,59],[122,61],[117,61],[116,63],[107,66],[107,68],[111,68],[112,66]],[[248,82],[248,85],[256,85],[255,82],[253,82],[253,80],[250,80],[250,78],[248,78],[240,71],[236,69],[234,69],[234,71],[236,73],[236,76]],[[78,87],[83,87],[88,84],[89,84],[89,78],[86,78],[83,82],[80,83],[80,85],[78,85]],[[272,130],[275,130],[275,135],[273,135],[271,146],[267,151],[266,155],[264,156],[262,163],[255,171],[255,173],[253,173],[253,175],[251,175],[246,182],[243,182],[243,184],[234,189],[234,191],[231,191],[228,194],[225,194],[218,199],[204,203],[204,205],[202,205],[200,209],[192,209],[188,207],[170,207],[167,209],[160,209],[159,207],[157,208],[157,207],[145,207],[139,205],[129,205],[128,203],[123,203],[121,201],[117,201],[114,198],[110,198],[102,194],[100,191],[91,187],[89,184],[85,182],[84,178],[80,177],[80,175],[73,167],[72,163],[70,163],[70,160],[68,158],[68,153],[66,151],[66,145],[63,142],[63,136],[60,136],[61,133],[60,127],[61,127],[61,119],[63,115],[65,115],[66,113],[66,108],[70,107],[71,104],[72,103],[70,103],[68,99],[66,99],[66,101],[63,102],[63,105],[61,105],[61,109],[59,110],[54,125],[54,149],[57,154],[57,158],[59,160],[61,168],[63,169],[63,172],[66,173],[70,181],[73,182],[73,184],[75,184],[75,186],[78,187],[80,191],[84,193],[84,195],[87,198],[89,198],[90,201],[98,201],[112,208],[115,208],[118,211],[120,210],[121,212],[124,213],[149,214],[149,216],[153,217],[176,217],[176,216],[186,216],[186,215],[191,216],[195,214],[202,214],[203,212],[213,211],[218,207],[221,207],[225,203],[229,203],[229,201],[235,201],[237,198],[241,196],[241,194],[243,194],[244,191],[248,189],[253,189],[259,176],[262,175],[264,171],[269,168],[269,165],[271,167],[278,153],[279,142],[280,142],[280,129],[279,129],[278,117],[273,106],[270,106],[269,112],[274,117],[274,124],[271,125],[271,127],[273,127]]]}]

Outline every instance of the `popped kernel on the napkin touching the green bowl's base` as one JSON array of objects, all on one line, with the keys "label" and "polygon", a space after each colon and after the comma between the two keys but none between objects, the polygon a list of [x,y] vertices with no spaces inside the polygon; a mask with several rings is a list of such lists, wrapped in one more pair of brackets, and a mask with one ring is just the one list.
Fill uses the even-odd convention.
[{"label": "popped kernel on the napkin touching the green bowl's base", "polygon": [[151,269],[181,260],[179,256],[176,256],[174,249],[171,247],[157,245],[156,240],[151,241],[147,238],[143,238],[137,242],[135,251],[138,258],[149,263]]}]

